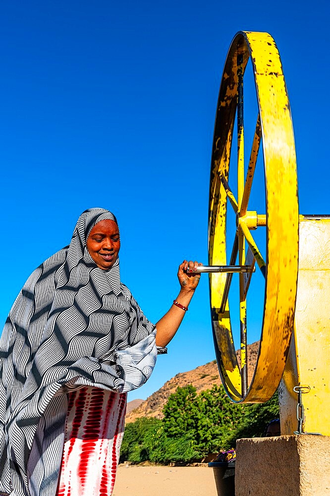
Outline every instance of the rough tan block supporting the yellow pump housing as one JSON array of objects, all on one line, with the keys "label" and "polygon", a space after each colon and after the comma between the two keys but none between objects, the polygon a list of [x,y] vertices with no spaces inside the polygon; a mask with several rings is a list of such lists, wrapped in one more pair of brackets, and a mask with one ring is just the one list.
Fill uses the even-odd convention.
[{"label": "rough tan block supporting the yellow pump housing", "polygon": [[330,437],[238,439],[235,496],[330,496]]}]

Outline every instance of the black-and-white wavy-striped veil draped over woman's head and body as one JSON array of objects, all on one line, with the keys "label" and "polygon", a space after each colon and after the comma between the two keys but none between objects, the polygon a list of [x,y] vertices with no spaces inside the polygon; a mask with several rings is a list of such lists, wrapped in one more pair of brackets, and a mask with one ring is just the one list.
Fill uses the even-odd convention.
[{"label": "black-and-white wavy-striped veil draped over woman's head and body", "polygon": [[102,208],[83,212],[70,245],[31,274],[6,320],[0,340],[0,494],[29,494],[27,462],[50,402],[54,411],[64,409],[57,418],[65,418],[68,391],[82,385],[130,391],[155,366],[155,326],[120,282],[119,260],[105,271],[87,250],[89,233],[104,219],[116,222]]}]

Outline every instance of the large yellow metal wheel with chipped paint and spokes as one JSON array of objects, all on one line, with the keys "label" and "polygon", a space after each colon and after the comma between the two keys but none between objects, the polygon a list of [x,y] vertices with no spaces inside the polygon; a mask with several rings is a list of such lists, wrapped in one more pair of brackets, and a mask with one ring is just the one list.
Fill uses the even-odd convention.
[{"label": "large yellow metal wheel with chipped paint and spokes", "polygon": [[[244,171],[243,79],[251,58],[259,115],[248,167]],[[228,184],[229,160],[237,113],[237,198]],[[266,205],[249,211],[249,198],[262,142]],[[236,216],[236,234],[226,256],[228,209]],[[264,315],[256,369],[247,381],[246,296],[251,277],[239,274],[240,349],[238,365],[230,321],[228,292],[232,274],[210,274],[214,342],[220,376],[235,402],[264,402],[284,371],[294,322],[298,273],[298,195],[296,156],[289,100],[275,41],[268,33],[239,32],[224,65],[216,114],[209,203],[209,264],[256,265],[265,276]],[[251,230],[266,229],[265,253]]]}]

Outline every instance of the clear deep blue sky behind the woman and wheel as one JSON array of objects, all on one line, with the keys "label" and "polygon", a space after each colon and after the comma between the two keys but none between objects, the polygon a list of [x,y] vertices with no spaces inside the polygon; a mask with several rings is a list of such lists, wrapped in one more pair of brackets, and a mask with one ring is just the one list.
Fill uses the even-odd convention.
[{"label": "clear deep blue sky behind the woman and wheel", "polygon": [[[28,275],[102,206],[121,278],[152,321],[183,258],[207,263],[220,77],[239,30],[273,35],[293,115],[301,213],[330,213],[326,1],[3,1],[1,327]],[[253,310],[251,314],[253,320]],[[259,339],[252,325],[248,340]],[[168,356],[129,399],[214,360],[207,276]]]}]

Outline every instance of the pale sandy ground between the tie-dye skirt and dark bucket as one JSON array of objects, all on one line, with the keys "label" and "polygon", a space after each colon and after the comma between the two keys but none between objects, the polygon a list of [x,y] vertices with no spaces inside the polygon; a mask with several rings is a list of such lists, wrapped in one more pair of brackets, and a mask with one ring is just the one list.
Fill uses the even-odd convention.
[{"label": "pale sandy ground between the tie-dye skirt and dark bucket", "polygon": [[213,469],[119,465],[112,496],[155,495],[217,496]]}]

